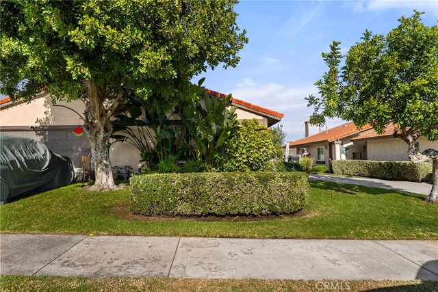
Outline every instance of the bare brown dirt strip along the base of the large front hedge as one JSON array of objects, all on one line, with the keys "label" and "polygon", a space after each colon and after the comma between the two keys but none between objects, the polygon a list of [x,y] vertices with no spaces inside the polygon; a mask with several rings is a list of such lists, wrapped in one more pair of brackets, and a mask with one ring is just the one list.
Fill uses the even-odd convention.
[{"label": "bare brown dirt strip along the base of the large front hedge", "polygon": [[215,222],[215,221],[229,221],[229,222],[250,222],[250,221],[264,221],[264,220],[288,220],[298,217],[315,217],[318,212],[301,210],[289,215],[240,215],[240,216],[145,216],[140,214],[133,214],[129,211],[129,202],[124,202],[110,210],[110,216],[118,219],[125,219],[129,221],[143,221],[143,222],[159,222],[159,221],[201,221],[201,222]]}]

